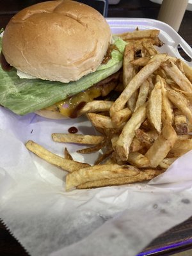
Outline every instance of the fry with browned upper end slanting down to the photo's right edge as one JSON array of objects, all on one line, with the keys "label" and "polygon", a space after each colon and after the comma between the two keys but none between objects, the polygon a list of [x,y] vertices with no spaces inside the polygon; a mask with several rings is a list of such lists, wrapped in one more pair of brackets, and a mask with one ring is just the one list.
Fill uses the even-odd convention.
[{"label": "fry with browned upper end slanting down to the photo's right edge", "polygon": [[179,85],[179,87],[185,92],[192,92],[192,84],[189,79],[182,74],[177,65],[172,60],[167,60],[162,64],[166,73],[172,77],[173,81]]}]

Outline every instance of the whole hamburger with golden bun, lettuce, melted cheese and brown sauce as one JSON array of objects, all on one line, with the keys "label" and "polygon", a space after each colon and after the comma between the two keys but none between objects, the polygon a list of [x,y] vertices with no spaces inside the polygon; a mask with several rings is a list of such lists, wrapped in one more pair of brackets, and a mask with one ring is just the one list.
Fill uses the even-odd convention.
[{"label": "whole hamburger with golden bun, lettuce, melted cheese and brown sauce", "polygon": [[99,97],[117,79],[125,47],[97,10],[70,0],[21,10],[1,44],[0,105],[48,118],[76,117]]}]

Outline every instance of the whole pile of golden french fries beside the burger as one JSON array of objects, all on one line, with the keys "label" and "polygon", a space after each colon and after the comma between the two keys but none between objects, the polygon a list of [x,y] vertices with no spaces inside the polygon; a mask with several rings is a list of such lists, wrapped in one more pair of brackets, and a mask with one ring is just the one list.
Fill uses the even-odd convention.
[{"label": "whole pile of golden french fries beside the burger", "polygon": [[34,141],[26,147],[66,170],[66,189],[143,182],[165,172],[192,149],[192,68],[160,54],[158,30],[118,35],[127,41],[115,101],[93,100],[82,109],[100,135],[52,134],[60,143],[89,145],[80,154],[102,151],[93,166],[79,163],[65,148],[63,157]]}]

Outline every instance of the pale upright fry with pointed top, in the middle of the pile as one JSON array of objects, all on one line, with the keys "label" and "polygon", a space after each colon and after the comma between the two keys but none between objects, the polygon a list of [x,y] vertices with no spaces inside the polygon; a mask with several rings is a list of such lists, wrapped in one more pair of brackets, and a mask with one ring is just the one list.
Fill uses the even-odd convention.
[{"label": "pale upright fry with pointed top, in the middle of the pile", "polygon": [[148,100],[147,106],[147,117],[150,124],[157,130],[161,132],[161,110],[162,110],[162,92],[161,92],[161,81],[157,81],[154,89],[150,93],[150,98]]}]

